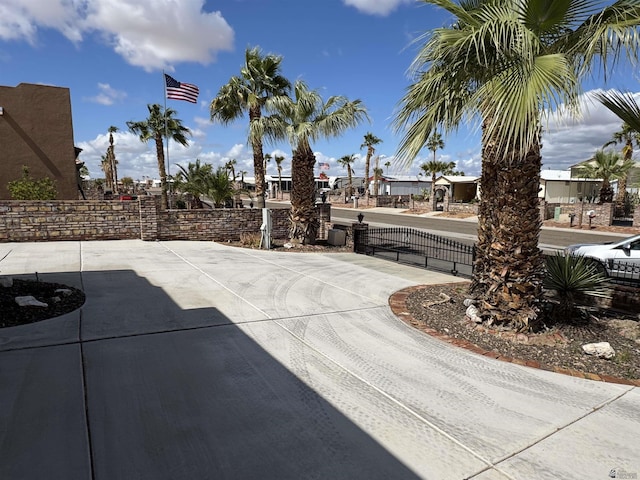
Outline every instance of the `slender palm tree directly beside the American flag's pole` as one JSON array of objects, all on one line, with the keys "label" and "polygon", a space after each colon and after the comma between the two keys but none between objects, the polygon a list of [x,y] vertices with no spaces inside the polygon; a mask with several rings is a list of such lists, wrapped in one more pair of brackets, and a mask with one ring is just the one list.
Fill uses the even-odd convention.
[{"label": "slender palm tree directly beside the American flag's pole", "polygon": [[160,174],[160,187],[162,189],[161,208],[167,208],[167,171],[164,163],[164,145],[163,139],[169,138],[178,142],[182,146],[189,145],[187,135],[191,131],[182,125],[182,120],[174,118],[176,111],[167,108],[163,111],[162,107],[157,104],[147,105],[149,117],[146,120],[127,122],[127,127],[132,133],[139,136],[140,141],[147,143],[153,140],[156,145],[156,156],[158,158],[158,173]]}]

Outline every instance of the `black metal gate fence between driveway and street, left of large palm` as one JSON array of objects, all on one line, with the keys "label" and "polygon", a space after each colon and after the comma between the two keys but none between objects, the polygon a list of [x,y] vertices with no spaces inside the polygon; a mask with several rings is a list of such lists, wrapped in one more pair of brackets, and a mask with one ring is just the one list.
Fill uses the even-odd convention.
[{"label": "black metal gate fence between driveway and street, left of large palm", "polygon": [[413,228],[354,229],[356,253],[471,277],[475,246]]}]

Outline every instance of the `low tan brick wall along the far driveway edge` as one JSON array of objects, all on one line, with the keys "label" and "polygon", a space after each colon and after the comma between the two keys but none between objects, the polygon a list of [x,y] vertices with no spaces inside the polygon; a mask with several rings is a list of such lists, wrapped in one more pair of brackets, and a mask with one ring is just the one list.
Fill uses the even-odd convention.
[{"label": "low tan brick wall along the far driveway edge", "polygon": [[[289,210],[271,210],[272,237],[287,238]],[[237,241],[260,235],[262,210],[161,211],[153,196],[139,201],[0,201],[0,242],[46,240]]]}]

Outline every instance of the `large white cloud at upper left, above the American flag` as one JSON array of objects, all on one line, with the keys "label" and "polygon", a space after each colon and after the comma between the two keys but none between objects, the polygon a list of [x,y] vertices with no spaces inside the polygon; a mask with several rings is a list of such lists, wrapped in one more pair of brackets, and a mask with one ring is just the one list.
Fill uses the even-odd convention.
[{"label": "large white cloud at upper left, above the American flag", "polygon": [[40,27],[73,42],[95,32],[129,64],[147,71],[179,62],[208,64],[230,50],[234,32],[204,0],[4,0],[0,38],[37,42]]}]

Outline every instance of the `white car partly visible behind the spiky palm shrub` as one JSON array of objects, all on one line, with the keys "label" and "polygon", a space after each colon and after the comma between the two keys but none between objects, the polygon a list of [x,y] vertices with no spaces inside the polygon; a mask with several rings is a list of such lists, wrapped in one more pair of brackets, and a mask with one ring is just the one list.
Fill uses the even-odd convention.
[{"label": "white car partly visible behind the spiky palm shrub", "polygon": [[597,260],[611,277],[640,280],[640,235],[617,242],[569,245],[565,252]]}]

